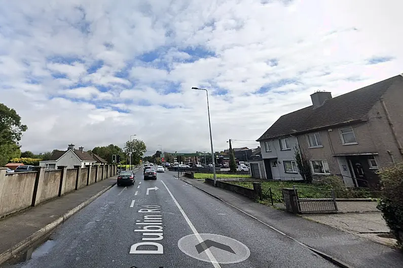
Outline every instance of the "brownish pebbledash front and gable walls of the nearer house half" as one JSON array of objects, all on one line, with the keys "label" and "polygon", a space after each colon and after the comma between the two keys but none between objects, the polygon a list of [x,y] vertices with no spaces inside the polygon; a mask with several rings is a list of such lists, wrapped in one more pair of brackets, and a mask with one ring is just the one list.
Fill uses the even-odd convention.
[{"label": "brownish pebbledash front and gable walls of the nearer house half", "polygon": [[[397,133],[400,144],[403,143],[403,83],[393,84],[383,96],[384,104]],[[375,159],[378,167],[386,167],[395,162],[403,161],[398,145],[392,135],[386,113],[381,101],[376,102],[365,118],[366,122],[346,124],[336,127],[328,127],[309,133],[319,133],[321,148],[308,148],[307,134],[298,135],[300,148],[306,153],[309,160],[327,160],[332,174],[342,174],[338,157],[334,155],[376,153]],[[357,144],[343,145],[340,128],[351,126],[357,140]],[[333,148],[333,151],[332,151]],[[389,152],[390,154],[389,154]]]}]

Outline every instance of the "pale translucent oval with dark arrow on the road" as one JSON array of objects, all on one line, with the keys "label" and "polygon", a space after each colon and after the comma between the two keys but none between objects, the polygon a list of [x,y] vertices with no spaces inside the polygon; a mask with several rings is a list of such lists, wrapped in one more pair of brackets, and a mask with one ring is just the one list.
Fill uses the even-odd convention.
[{"label": "pale translucent oval with dark arrow on the road", "polygon": [[247,246],[230,237],[199,234],[203,241],[199,241],[196,235],[184,236],[178,241],[179,249],[198,260],[210,262],[207,249],[218,263],[229,264],[244,261],[250,255]]}]

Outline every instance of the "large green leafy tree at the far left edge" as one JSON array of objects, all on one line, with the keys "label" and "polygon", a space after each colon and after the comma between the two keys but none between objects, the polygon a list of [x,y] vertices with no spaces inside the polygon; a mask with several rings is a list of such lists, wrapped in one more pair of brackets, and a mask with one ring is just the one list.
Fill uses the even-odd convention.
[{"label": "large green leafy tree at the far left edge", "polygon": [[4,166],[11,158],[20,157],[18,142],[27,126],[21,123],[21,117],[14,109],[0,103],[0,166]]}]

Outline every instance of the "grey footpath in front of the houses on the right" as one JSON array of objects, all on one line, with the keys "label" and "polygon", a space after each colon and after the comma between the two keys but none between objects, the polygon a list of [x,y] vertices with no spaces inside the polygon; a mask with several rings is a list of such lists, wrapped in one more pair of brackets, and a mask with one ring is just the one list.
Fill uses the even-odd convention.
[{"label": "grey footpath in front of the houses on the right", "polygon": [[403,253],[399,250],[254,202],[247,197],[210,186],[200,180],[182,177],[180,179],[259,220],[288,238],[308,246],[341,267],[403,267]]}]

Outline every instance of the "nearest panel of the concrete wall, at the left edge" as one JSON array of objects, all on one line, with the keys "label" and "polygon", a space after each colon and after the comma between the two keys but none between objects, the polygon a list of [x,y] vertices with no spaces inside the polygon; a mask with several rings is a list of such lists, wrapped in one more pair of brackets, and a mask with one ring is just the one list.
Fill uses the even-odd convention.
[{"label": "nearest panel of the concrete wall, at the left edge", "polygon": [[36,178],[35,171],[5,173],[0,170],[0,217],[31,205]]}]

